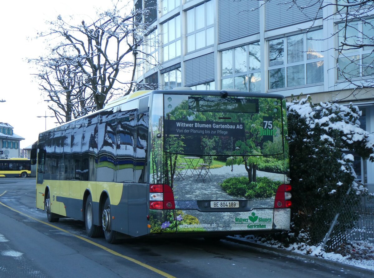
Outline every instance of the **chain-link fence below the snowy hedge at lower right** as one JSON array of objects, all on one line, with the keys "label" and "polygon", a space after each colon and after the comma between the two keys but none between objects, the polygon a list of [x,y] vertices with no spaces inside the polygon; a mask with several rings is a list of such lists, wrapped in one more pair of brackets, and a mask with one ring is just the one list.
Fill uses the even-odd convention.
[{"label": "chain-link fence below the snowy hedge at lower right", "polygon": [[343,263],[374,266],[374,199],[356,202],[347,196],[329,209],[321,227],[325,251],[341,254]]}]

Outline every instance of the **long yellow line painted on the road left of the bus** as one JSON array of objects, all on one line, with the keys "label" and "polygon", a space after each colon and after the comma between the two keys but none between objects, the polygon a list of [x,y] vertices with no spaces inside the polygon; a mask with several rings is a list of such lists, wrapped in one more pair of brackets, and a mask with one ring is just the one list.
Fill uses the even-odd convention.
[{"label": "long yellow line painted on the road left of the bus", "polygon": [[[0,196],[4,195],[5,193],[6,193],[6,191],[4,191]],[[160,274],[160,275],[162,275],[162,276],[164,276],[164,277],[175,278],[174,276],[172,276],[172,275],[170,275],[170,274],[168,274],[168,273],[166,273],[166,272],[163,272],[163,271],[161,271],[161,270],[159,270],[159,269],[157,269],[157,268],[154,268],[153,266],[150,266],[150,265],[147,265],[147,264],[145,264],[145,263],[142,263],[142,262],[140,262],[140,261],[138,261],[138,260],[135,260],[135,259],[133,259],[133,258],[131,258],[131,257],[128,257],[128,256],[125,256],[125,255],[122,255],[122,254],[120,254],[120,253],[118,253],[118,252],[116,252],[116,251],[113,251],[113,250],[111,250],[111,249],[109,249],[109,248],[107,248],[107,247],[105,247],[105,246],[103,246],[103,245],[101,245],[101,244],[98,244],[98,243],[93,242],[93,241],[91,241],[91,240],[89,240],[89,239],[87,239],[87,238],[84,238],[83,236],[76,235],[76,234],[74,234],[74,233],[69,232],[68,230],[61,229],[60,227],[57,227],[57,226],[52,225],[52,224],[50,224],[50,223],[47,223],[47,222],[44,222],[44,221],[42,221],[42,220],[36,219],[36,218],[34,218],[34,217],[32,217],[32,216],[29,216],[29,215],[27,215],[27,214],[25,214],[25,213],[22,213],[21,211],[15,210],[14,208],[9,207],[9,206],[7,206],[6,204],[3,204],[2,202],[0,202],[0,205],[3,205],[4,207],[9,208],[10,210],[15,211],[16,213],[22,214],[23,216],[26,216],[26,217],[28,217],[28,218],[30,218],[30,219],[33,219],[33,220],[37,221],[37,222],[40,222],[40,223],[46,224],[47,226],[53,227],[53,228],[58,229],[58,230],[60,230],[60,231],[62,231],[62,232],[64,232],[64,233],[68,233],[69,235],[75,236],[76,238],[82,239],[83,241],[86,241],[86,242],[88,242],[88,243],[91,243],[91,244],[95,245],[96,247],[99,247],[99,248],[101,248],[101,249],[103,249],[103,250],[105,250],[105,251],[107,251],[107,252],[109,252],[109,253],[111,253],[111,254],[113,254],[113,255],[115,255],[115,256],[118,256],[118,257],[121,257],[121,258],[123,258],[123,259],[129,260],[130,262],[136,263],[137,265],[140,265],[140,266],[142,266],[142,267],[144,267],[144,268],[147,268],[147,269],[149,269],[150,271],[156,272],[157,274]]]}]

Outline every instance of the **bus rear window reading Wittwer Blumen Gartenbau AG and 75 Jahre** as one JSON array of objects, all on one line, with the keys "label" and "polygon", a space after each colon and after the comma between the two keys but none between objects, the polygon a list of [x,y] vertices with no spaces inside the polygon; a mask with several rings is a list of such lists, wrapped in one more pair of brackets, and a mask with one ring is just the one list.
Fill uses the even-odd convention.
[{"label": "bus rear window reading Wittwer Blumen Gartenbau AG and 75 Jahre", "polygon": [[164,95],[164,151],[184,155],[283,153],[282,100]]}]

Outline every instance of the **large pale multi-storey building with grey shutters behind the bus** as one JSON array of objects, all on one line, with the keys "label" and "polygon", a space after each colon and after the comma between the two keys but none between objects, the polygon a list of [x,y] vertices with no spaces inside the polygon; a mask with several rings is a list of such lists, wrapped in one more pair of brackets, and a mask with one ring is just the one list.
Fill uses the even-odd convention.
[{"label": "large pale multi-storey building with grey shutters behind the bus", "polygon": [[[353,102],[363,113],[361,127],[374,132],[374,90],[352,94],[355,87],[337,70],[339,64],[358,81],[373,82],[373,47],[337,51],[344,21],[333,15],[336,2],[312,5],[316,2],[298,0],[296,6],[282,0],[134,0],[136,9],[150,8],[142,20],[153,27],[147,36],[150,43],[141,49],[153,58],[138,54],[146,62],[138,67],[137,81],[154,89],[235,88],[286,98],[309,94],[314,103]],[[373,3],[360,16],[374,23]],[[360,18],[350,24],[350,40],[374,37],[372,25]],[[355,170],[374,192],[374,165],[356,157]]]}]

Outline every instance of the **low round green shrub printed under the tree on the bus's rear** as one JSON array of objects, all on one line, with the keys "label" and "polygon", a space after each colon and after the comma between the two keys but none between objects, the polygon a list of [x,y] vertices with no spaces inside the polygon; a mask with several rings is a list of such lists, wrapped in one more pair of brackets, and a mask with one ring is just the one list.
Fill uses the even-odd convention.
[{"label": "low round green shrub printed under the tree on the bus's rear", "polygon": [[222,189],[227,194],[248,199],[272,197],[279,185],[279,181],[272,181],[266,177],[257,177],[257,181],[251,183],[248,177],[232,177],[221,183]]}]

